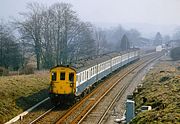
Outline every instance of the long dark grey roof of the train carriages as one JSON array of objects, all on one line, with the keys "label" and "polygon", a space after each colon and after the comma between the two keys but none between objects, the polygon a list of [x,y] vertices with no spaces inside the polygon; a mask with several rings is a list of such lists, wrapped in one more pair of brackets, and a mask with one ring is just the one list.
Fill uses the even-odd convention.
[{"label": "long dark grey roof of the train carriages", "polygon": [[[133,49],[130,49],[128,52],[135,51],[135,50],[138,50],[138,49],[133,48]],[[109,60],[111,58],[114,58],[116,56],[119,56],[119,55],[122,55],[122,54],[125,54],[125,53],[127,53],[127,51],[112,52],[112,53],[109,53],[109,54],[99,55],[99,56],[96,56],[94,58],[83,59],[83,60],[78,61],[75,64],[73,64],[73,67],[76,69],[76,72],[78,73],[78,72],[86,70],[86,69],[88,69],[90,67],[93,67],[94,65],[97,65],[99,63],[102,63],[104,61],[107,61],[107,60]]]}]

